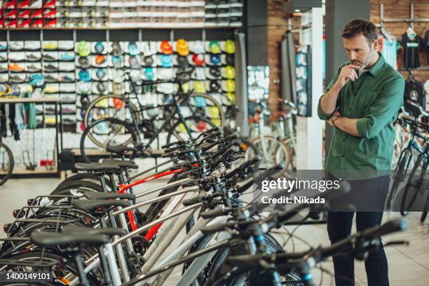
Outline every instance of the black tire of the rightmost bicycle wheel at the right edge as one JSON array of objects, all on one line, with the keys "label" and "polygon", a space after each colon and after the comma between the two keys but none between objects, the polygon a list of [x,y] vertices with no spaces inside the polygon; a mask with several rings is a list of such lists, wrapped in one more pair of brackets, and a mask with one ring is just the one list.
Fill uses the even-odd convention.
[{"label": "black tire of the rightmost bicycle wheel at the right edge", "polygon": [[[413,182],[414,173],[416,173],[416,170],[421,165],[423,160],[425,160],[423,165],[424,167],[422,168],[421,173],[418,176],[417,188],[415,188],[414,187],[415,185]],[[423,183],[424,175],[426,173],[427,168],[428,168],[428,158],[426,158],[425,155],[421,154],[420,156],[418,156],[417,161],[414,164],[413,170],[411,170],[411,173],[409,174],[407,185],[405,186],[404,194],[402,195],[400,212],[403,217],[405,217],[408,214],[412,205],[414,205],[414,202],[416,201],[418,193],[421,191],[421,184]],[[409,197],[409,191],[411,187],[414,187],[413,189],[415,189],[415,192],[412,193],[411,200],[409,201],[409,203],[407,203],[407,198]]]}]

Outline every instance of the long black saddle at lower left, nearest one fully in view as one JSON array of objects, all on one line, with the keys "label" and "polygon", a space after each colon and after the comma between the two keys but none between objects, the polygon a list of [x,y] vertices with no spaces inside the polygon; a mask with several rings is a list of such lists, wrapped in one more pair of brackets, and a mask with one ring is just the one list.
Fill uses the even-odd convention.
[{"label": "long black saddle at lower left, nearest one fully in view", "polygon": [[56,246],[70,244],[101,245],[109,243],[109,239],[104,235],[94,235],[93,233],[54,233],[50,231],[33,231],[30,235],[32,241],[40,246]]}]

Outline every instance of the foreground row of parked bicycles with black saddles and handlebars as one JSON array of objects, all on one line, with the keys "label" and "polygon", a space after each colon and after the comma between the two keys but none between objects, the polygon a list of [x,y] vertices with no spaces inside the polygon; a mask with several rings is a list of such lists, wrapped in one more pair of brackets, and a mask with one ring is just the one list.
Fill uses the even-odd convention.
[{"label": "foreground row of parked bicycles with black saddles and handlebars", "polygon": [[[259,180],[277,179],[285,166],[255,172],[261,156],[243,158],[240,144],[237,134],[219,127],[170,142],[162,148],[172,165],[139,180],[130,179],[138,168],[130,160],[76,163],[78,174],[13,211],[1,239],[0,275],[50,274],[49,281],[31,285],[163,285],[179,269],[175,285],[314,285],[311,271],[320,261],[350,252],[365,259],[381,246],[381,236],[407,229],[404,219],[395,219],[328,247],[283,247],[275,236],[285,225],[298,227],[326,210],[349,186],[319,195],[324,205],[268,211],[257,196],[243,198]],[[108,148],[123,158],[137,151]],[[157,187],[144,188],[156,180]],[[135,192],[137,185],[144,191]],[[394,243],[402,242],[384,245]]]}]

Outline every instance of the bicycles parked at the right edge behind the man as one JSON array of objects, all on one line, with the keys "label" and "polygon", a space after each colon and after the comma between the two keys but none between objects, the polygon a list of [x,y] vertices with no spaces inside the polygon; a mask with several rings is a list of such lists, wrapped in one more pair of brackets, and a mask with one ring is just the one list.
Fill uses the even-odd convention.
[{"label": "bicycles parked at the right edge behind the man", "polygon": [[395,166],[386,207],[399,209],[403,216],[421,212],[423,224],[429,212],[429,114],[414,102],[406,105],[395,125]]}]

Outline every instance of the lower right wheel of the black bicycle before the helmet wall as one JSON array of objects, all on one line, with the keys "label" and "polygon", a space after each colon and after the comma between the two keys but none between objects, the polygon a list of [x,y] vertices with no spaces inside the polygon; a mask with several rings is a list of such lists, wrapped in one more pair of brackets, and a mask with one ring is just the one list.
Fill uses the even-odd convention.
[{"label": "lower right wheel of the black bicycle before the helmet wall", "polygon": [[[190,116],[184,118],[186,125],[191,132],[191,137],[197,137],[201,132],[205,132],[215,127],[215,125],[210,121],[210,119],[205,117]],[[168,130],[167,143],[175,141],[188,141],[191,139],[184,124],[180,121],[176,121],[170,130]]]}]

